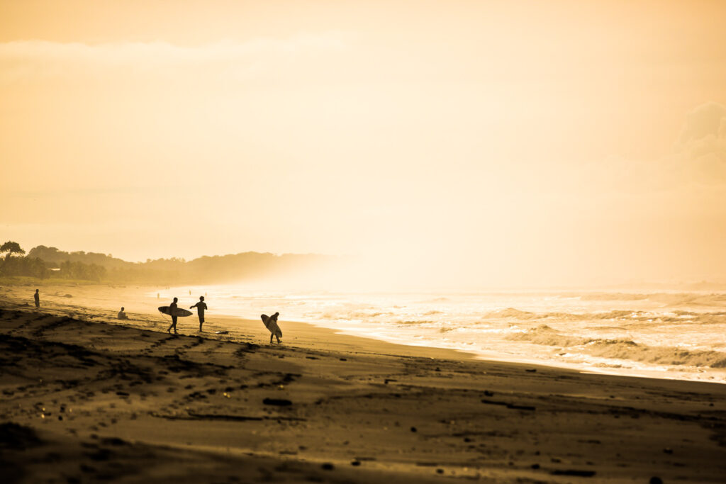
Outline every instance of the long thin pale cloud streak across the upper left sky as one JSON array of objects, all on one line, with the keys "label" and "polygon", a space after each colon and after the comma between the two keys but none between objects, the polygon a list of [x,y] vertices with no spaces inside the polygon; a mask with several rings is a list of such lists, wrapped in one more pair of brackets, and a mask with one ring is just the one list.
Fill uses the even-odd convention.
[{"label": "long thin pale cloud streak across the upper left sky", "polygon": [[346,49],[342,33],[301,35],[287,39],[257,38],[200,46],[168,42],[107,44],[13,41],[0,44],[0,83],[38,82],[48,78],[98,77],[150,73],[183,75],[224,73],[256,78],[274,71],[306,70],[330,61]]}]

